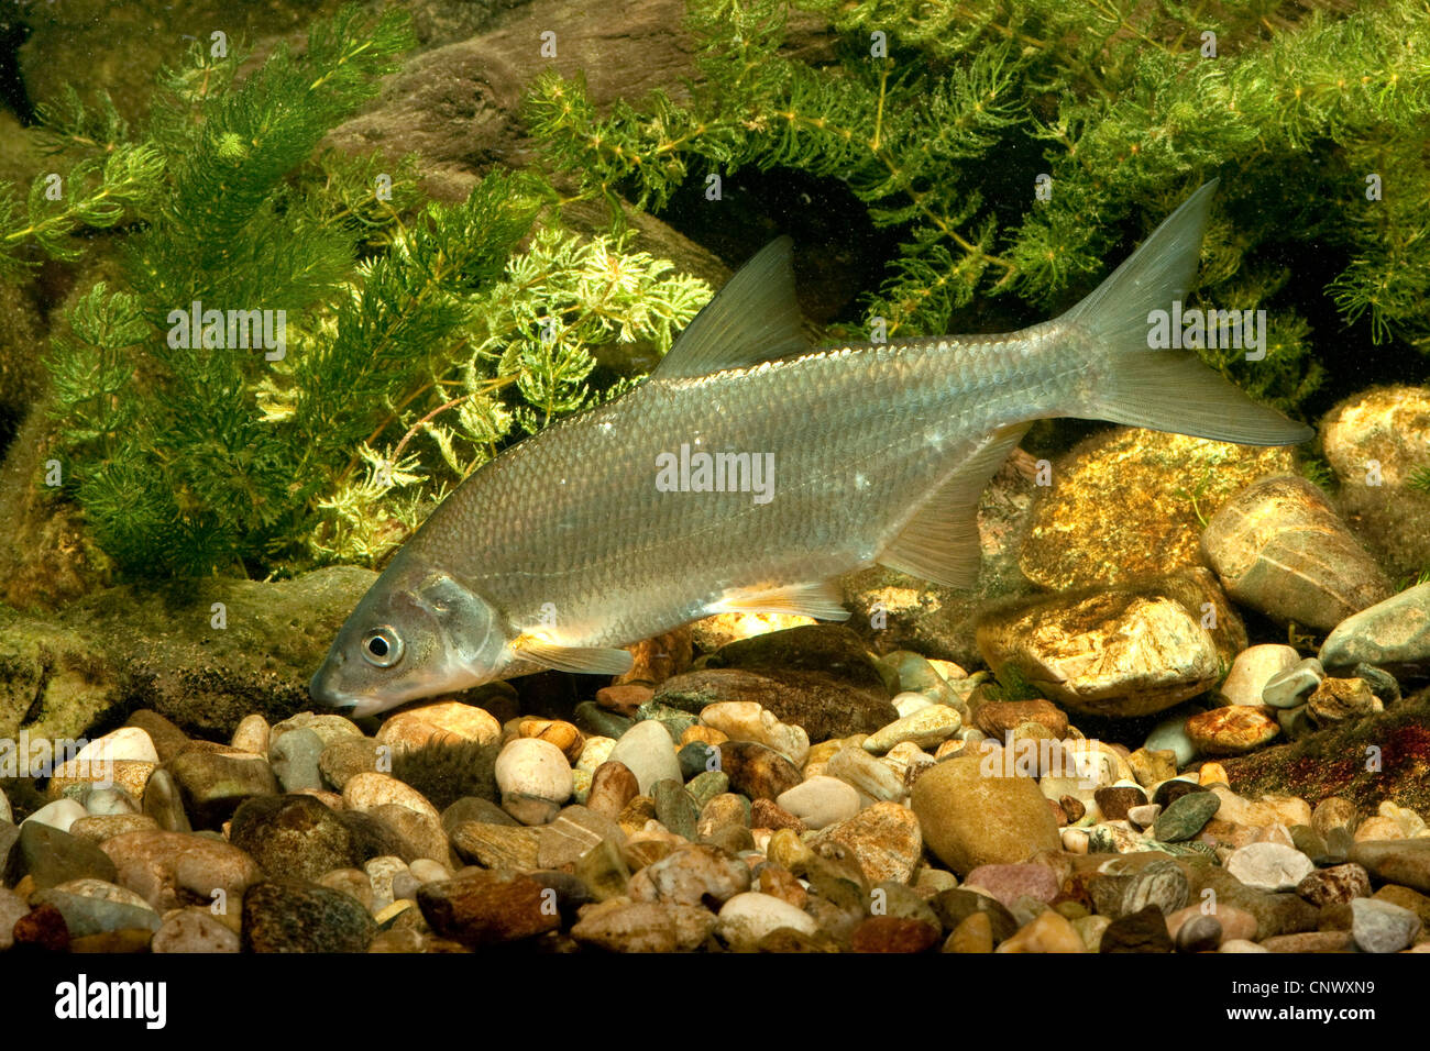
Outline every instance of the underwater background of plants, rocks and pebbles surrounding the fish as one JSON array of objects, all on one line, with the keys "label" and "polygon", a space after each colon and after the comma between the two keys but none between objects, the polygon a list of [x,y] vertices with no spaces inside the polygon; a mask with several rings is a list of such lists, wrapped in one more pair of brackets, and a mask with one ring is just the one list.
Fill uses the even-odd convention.
[{"label": "underwater background of plants, rocks and pebbles surrounding the fish", "polygon": [[[1423,945],[1427,54],[1394,0],[7,6],[0,948]],[[1313,442],[1041,420],[971,592],[315,709],[456,485],[771,239],[818,345],[1014,332],[1211,179],[1190,306],[1263,346],[1197,352]]]}]

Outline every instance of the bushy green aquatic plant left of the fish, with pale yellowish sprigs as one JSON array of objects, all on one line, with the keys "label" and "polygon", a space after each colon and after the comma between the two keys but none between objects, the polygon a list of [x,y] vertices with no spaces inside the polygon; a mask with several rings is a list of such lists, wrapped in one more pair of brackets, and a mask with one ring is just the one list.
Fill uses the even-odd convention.
[{"label": "bushy green aquatic plant left of the fish, with pale yellowish sprigs", "polygon": [[350,7],[242,77],[243,49],[194,47],[133,139],[106,100],[46,110],[89,156],[69,197],[0,196],[0,269],[127,223],[44,359],[64,492],[122,569],[372,563],[512,436],[606,396],[593,352],[658,355],[708,299],[555,229],[536,174],[425,203],[412,159],[319,152],[410,44],[405,14]]}]

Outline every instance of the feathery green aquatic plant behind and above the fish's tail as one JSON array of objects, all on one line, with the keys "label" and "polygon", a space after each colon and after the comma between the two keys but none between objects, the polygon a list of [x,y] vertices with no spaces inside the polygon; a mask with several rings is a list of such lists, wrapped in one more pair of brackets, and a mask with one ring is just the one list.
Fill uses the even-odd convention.
[{"label": "feathery green aquatic plant behind and above the fish's tail", "polygon": [[[1266,309],[1268,332],[1264,357],[1208,347],[1208,363],[1281,408],[1324,380],[1307,320],[1324,277],[1283,246],[1340,260],[1346,320],[1430,349],[1423,6],[797,6],[832,21],[837,61],[781,51],[778,0],[691,0],[704,79],[688,102],[656,92],[602,114],[579,77],[546,74],[528,113],[548,159],[586,194],[654,209],[748,166],[841,183],[897,239],[855,326],[889,335],[947,332],[978,296],[1017,296],[1030,320],[1067,306],[1220,173],[1201,295]],[[1288,192],[1300,183],[1313,192]]]}]

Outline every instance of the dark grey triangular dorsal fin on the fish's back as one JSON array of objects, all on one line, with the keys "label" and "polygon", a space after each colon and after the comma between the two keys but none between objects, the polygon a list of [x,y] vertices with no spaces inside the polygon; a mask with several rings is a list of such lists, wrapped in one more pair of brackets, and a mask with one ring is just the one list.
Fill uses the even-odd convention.
[{"label": "dark grey triangular dorsal fin on the fish's back", "polygon": [[708,376],[807,350],[789,265],[792,245],[789,237],[778,237],[739,267],[695,315],[652,379]]}]

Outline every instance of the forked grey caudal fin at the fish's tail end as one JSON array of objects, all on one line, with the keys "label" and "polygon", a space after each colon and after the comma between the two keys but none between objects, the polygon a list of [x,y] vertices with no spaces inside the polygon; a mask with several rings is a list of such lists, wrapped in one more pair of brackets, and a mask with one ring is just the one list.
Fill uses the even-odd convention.
[{"label": "forked grey caudal fin at the fish's tail end", "polygon": [[1190,350],[1148,346],[1153,310],[1184,300],[1197,276],[1217,180],[1181,207],[1060,320],[1098,356],[1091,403],[1078,415],[1241,445],[1297,445],[1314,430],[1257,405]]}]

